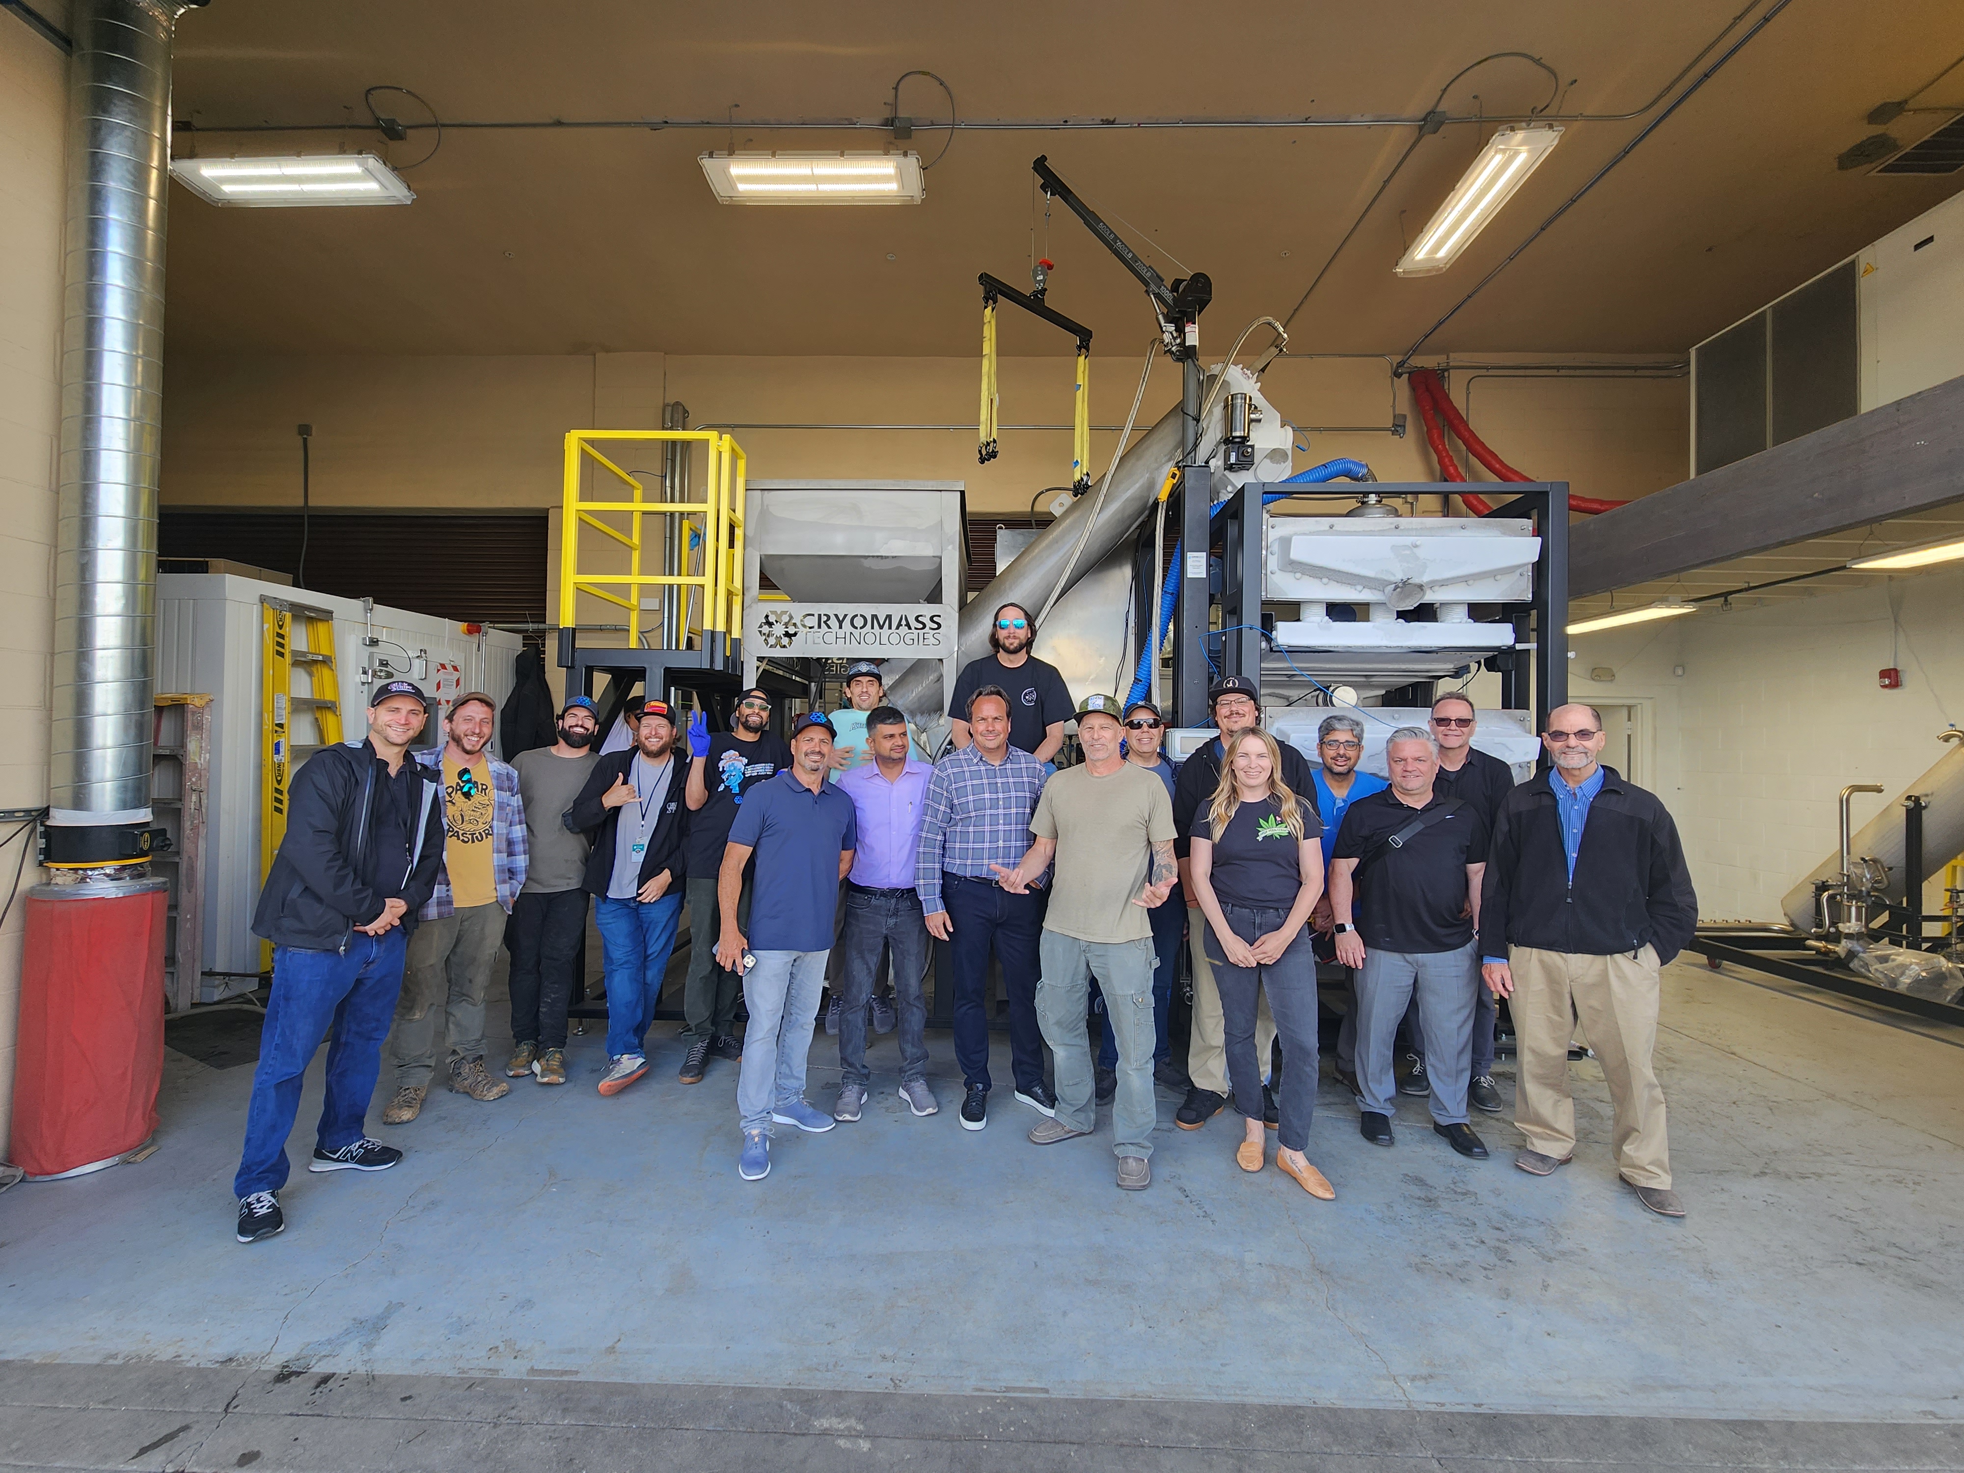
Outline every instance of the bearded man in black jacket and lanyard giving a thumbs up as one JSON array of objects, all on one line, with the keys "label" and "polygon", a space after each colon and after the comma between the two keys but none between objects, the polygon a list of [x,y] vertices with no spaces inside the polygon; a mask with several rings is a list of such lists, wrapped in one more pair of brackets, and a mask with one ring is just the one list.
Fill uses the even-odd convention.
[{"label": "bearded man in black jacket and lanyard giving a thumbs up", "polygon": [[687,878],[683,805],[687,772],[676,760],[676,713],[646,701],[634,746],[593,764],[566,813],[572,829],[593,835],[587,894],[607,966],[607,1072],[601,1094],[619,1094],[648,1072],[642,1043],[654,1021],[668,955],[682,919]]}]

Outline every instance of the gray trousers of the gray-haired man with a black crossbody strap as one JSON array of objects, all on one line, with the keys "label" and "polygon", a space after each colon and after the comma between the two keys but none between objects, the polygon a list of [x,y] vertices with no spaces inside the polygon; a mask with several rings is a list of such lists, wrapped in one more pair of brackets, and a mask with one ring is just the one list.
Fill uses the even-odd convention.
[{"label": "gray trousers of the gray-haired man with a black crossbody strap", "polygon": [[1398,1019],[1416,994],[1418,1025],[1426,1041],[1426,1080],[1432,1084],[1432,1119],[1440,1125],[1465,1125],[1479,986],[1479,939],[1457,951],[1365,951],[1357,970],[1357,1086],[1367,1112],[1392,1114],[1398,1098],[1392,1045]]}]

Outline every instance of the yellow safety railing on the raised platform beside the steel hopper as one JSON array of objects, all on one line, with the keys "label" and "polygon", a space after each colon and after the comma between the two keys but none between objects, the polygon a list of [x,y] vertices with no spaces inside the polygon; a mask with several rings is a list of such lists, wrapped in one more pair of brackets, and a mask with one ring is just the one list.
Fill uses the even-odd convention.
[{"label": "yellow safety railing on the raised platform beside the steel hopper", "polygon": [[[642,481],[613,464],[595,446],[609,440],[685,440],[709,448],[705,501],[648,499]],[[628,489],[628,497],[581,495],[587,462]],[[566,434],[566,493],[560,518],[560,625],[579,623],[579,595],[587,593],[619,609],[627,609],[627,642],[640,644],[644,587],[701,589],[703,611],[699,634],[705,644],[721,634],[725,644],[742,638],[742,507],[748,460],[731,436],[719,430],[570,430]],[[668,536],[683,538],[680,566],[689,566],[687,532],[701,534],[701,572],[662,573],[642,572],[642,520],[672,517]],[[625,530],[611,520],[627,522]],[[693,520],[691,520],[693,518]],[[625,573],[581,570],[579,538],[583,528],[619,542],[628,552]],[[666,595],[664,595],[666,597]],[[687,595],[683,595],[687,597]],[[697,630],[693,621],[683,625]]]}]

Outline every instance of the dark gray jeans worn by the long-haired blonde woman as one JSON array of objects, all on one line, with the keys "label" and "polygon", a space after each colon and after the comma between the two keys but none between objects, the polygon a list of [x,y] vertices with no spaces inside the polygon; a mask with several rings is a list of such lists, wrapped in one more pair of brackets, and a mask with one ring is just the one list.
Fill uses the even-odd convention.
[{"label": "dark gray jeans worn by the long-haired blonde woman", "polygon": [[[1282,907],[1247,907],[1222,903],[1222,915],[1233,933],[1247,943],[1281,931],[1288,911]],[[1208,927],[1208,960],[1214,962],[1214,986],[1222,994],[1222,1041],[1228,1053],[1228,1080],[1233,1086],[1233,1108],[1247,1119],[1265,1118],[1261,1072],[1265,1059],[1255,1057],[1257,996],[1269,994],[1275,1015],[1275,1037],[1282,1043],[1282,1088],[1277,1090],[1281,1125],[1277,1139],[1290,1151],[1310,1145],[1310,1116],[1316,1112],[1316,953],[1310,949],[1310,929],[1302,927],[1277,960],[1267,966],[1229,966],[1220,937]]]}]

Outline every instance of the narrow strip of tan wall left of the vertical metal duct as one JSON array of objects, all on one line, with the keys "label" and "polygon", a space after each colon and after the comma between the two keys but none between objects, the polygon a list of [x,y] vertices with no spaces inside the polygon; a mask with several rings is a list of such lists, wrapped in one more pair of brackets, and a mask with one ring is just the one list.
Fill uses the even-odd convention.
[{"label": "narrow strip of tan wall left of the vertical metal duct", "polygon": [[[47,801],[65,102],[61,53],[0,18],[0,807]],[[18,848],[0,850],[0,882],[18,862]],[[29,864],[22,890],[41,878]],[[16,900],[0,927],[0,1157],[14,1114],[24,911]]]}]

